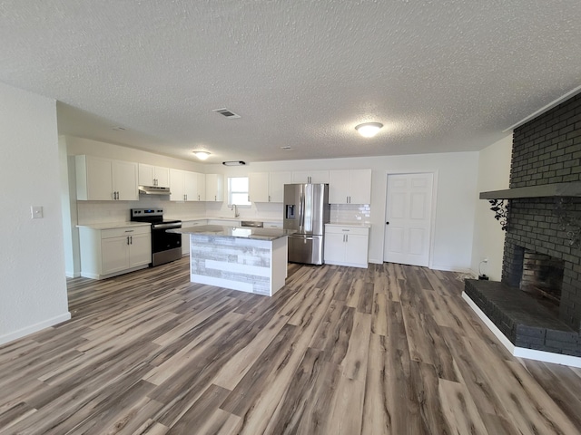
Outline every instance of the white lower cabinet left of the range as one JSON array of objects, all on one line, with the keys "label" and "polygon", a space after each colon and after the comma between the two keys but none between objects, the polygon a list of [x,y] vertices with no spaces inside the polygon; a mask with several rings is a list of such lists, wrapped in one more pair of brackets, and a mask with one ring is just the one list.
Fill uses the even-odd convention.
[{"label": "white lower cabinet left of the range", "polygon": [[150,226],[79,227],[81,275],[103,279],[142,269],[152,262]]}]

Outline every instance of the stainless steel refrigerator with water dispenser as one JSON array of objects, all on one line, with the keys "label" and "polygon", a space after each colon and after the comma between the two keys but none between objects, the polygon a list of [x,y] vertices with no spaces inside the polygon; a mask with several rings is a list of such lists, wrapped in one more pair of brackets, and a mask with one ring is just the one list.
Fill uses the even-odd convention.
[{"label": "stainless steel refrigerator with water dispenser", "polygon": [[307,265],[323,264],[325,224],[329,222],[328,184],[284,185],[284,229],[289,236],[289,261]]}]

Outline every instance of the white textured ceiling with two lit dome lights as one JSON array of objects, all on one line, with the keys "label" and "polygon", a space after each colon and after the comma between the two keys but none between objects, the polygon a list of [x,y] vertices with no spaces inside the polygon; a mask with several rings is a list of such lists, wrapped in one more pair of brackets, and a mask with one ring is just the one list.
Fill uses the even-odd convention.
[{"label": "white textured ceiling with two lit dome lights", "polygon": [[581,84],[578,0],[0,0],[0,41],[60,133],[210,163],[480,150]]}]

